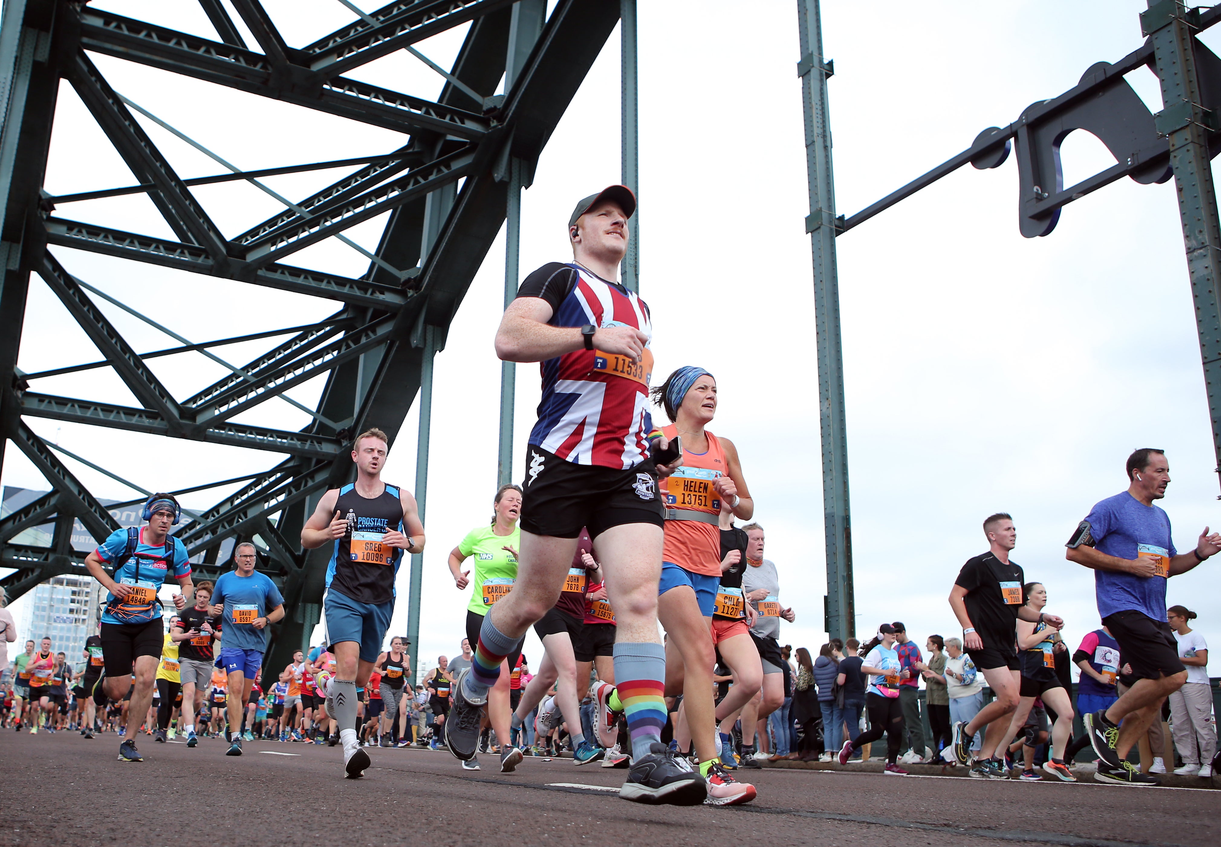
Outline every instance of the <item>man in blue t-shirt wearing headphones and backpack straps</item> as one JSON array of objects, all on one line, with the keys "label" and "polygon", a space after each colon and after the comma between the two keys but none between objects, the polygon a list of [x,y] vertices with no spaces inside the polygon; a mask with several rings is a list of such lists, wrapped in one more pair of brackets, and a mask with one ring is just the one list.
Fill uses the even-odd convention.
[{"label": "man in blue t-shirt wearing headphones and backpack straps", "polygon": [[[187,548],[170,535],[170,527],[178,523],[182,515],[178,501],[168,494],[154,494],[144,502],[140,515],[148,526],[138,530],[134,545],[127,529],[116,529],[84,560],[89,574],[109,592],[99,632],[106,695],[125,699],[132,689],[134,669],[136,687],[127,709],[126,738],[118,747],[120,761],[144,760],[136,749],[136,732],[153,702],[156,666],[165,640],[158,592],[173,578],[187,596],[194,595]],[[187,605],[182,593],[173,595],[173,605],[176,609]]]}]

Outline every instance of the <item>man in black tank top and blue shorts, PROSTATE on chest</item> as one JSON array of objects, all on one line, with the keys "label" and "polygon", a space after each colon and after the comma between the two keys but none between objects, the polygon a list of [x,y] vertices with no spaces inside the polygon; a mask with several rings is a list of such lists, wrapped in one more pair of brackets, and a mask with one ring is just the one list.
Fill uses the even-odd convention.
[{"label": "man in black tank top and blue shorts, PROSTATE on chest", "polygon": [[357,688],[369,682],[394,614],[394,574],[403,551],[424,550],[424,524],[415,497],[381,480],[389,440],[380,429],[357,436],[352,461],[357,482],[322,495],[302,529],[302,546],[333,543],[326,568],[326,633],[335,654],[327,714],[339,726],[344,771],[364,776],[369,754],[357,738]]}]

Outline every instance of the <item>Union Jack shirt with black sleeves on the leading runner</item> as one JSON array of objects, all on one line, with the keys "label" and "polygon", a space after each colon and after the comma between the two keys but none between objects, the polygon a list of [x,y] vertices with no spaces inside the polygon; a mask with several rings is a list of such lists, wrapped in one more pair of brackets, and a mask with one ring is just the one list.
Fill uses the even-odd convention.
[{"label": "Union Jack shirt with black sleeves on the leading runner", "polygon": [[547,301],[552,326],[631,326],[650,337],[640,362],[584,348],[542,362],[542,400],[530,444],[574,464],[625,471],[645,461],[653,429],[653,326],[645,302],[618,282],[558,262],[530,274],[518,297]]}]

